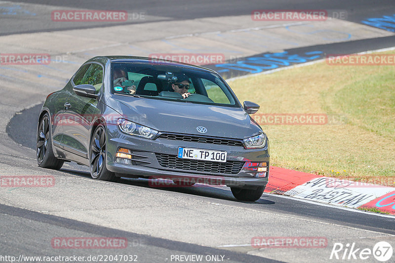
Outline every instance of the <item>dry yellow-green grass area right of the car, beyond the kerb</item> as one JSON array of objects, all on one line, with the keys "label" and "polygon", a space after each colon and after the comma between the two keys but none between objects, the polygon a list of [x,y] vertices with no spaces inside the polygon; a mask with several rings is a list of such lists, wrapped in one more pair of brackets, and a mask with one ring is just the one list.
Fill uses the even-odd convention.
[{"label": "dry yellow-green grass area right of the car, beyond the kerb", "polygon": [[255,116],[328,115],[326,125],[262,126],[273,165],[395,187],[394,66],[323,62],[229,84],[241,101],[261,105]]}]

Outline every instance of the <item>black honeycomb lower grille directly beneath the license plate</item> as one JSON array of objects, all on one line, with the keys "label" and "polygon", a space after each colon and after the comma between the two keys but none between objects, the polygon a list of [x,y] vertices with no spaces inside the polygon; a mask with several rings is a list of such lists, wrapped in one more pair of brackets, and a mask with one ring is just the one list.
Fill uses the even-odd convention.
[{"label": "black honeycomb lower grille directly beneath the license plate", "polygon": [[227,161],[226,163],[208,162],[199,160],[188,160],[177,158],[176,155],[169,154],[155,154],[158,159],[160,166],[177,169],[187,170],[195,172],[205,173],[225,173],[225,174],[237,174],[240,172],[244,165],[244,162],[239,161]]}]

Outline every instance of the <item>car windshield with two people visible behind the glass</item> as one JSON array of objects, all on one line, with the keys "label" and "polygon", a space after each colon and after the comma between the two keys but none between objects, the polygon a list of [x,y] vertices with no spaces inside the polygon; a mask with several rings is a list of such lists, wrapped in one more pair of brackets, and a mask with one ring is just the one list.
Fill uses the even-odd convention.
[{"label": "car windshield with two people visible behind the glass", "polygon": [[[185,67],[112,63],[112,94],[199,104],[238,106],[226,83],[215,73]],[[187,93],[188,96],[183,96]]]}]

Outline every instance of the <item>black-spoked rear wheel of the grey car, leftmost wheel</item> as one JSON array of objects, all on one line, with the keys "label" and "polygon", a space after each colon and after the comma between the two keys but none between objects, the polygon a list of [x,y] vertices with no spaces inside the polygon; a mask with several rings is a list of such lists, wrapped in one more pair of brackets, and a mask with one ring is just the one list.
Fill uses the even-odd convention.
[{"label": "black-spoked rear wheel of the grey car, leftmost wheel", "polygon": [[37,129],[36,156],[37,164],[43,168],[59,170],[64,163],[53,154],[51,122],[48,113],[42,116]]}]

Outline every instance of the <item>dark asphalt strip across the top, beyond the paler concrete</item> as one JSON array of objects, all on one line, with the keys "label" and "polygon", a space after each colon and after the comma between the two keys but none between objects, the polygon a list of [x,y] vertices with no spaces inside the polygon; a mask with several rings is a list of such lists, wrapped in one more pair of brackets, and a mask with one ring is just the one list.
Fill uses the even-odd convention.
[{"label": "dark asphalt strip across the top, beyond the paler concrete", "polygon": [[[40,6],[35,4],[40,4]],[[182,21],[208,17],[250,15],[252,10],[257,9],[346,11],[346,19],[356,23],[360,23],[362,19],[369,17],[391,16],[395,13],[392,0],[380,0],[379,2],[372,0],[249,0],[242,4],[237,0],[201,0],[198,2],[193,0],[166,0],[149,3],[143,0],[96,0],[94,6],[90,1],[79,0],[10,0],[2,1],[1,7],[3,10],[2,17],[5,19],[0,24],[0,35],[111,27],[152,21]],[[130,16],[123,23],[48,23],[48,20],[50,20],[48,10],[64,9],[126,10]],[[135,18],[133,18],[133,13],[136,16]],[[144,15],[139,17],[138,14],[140,13]],[[20,19],[21,16],[23,16],[23,19]]]}]

